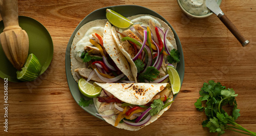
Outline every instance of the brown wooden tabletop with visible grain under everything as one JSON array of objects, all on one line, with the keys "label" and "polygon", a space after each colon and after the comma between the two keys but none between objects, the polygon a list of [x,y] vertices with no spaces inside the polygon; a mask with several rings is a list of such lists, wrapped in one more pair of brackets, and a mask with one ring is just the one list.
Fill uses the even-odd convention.
[{"label": "brown wooden tabletop with visible grain under everything", "polygon": [[[156,11],[177,32],[184,53],[184,81],[173,105],[139,131],[118,129],[84,111],[73,99],[65,73],[68,41],[92,11],[114,5],[139,5]],[[147,1],[18,1],[19,15],[32,17],[52,36],[52,62],[40,78],[8,84],[8,132],[4,131],[4,80],[0,79],[0,135],[217,135],[201,122],[194,103],[204,82],[215,80],[238,94],[237,123],[256,132],[256,1],[223,0],[221,9],[250,41],[242,47],[216,15],[187,17],[176,0]],[[41,80],[44,79],[44,80]],[[241,135],[226,130],[225,135]]]}]

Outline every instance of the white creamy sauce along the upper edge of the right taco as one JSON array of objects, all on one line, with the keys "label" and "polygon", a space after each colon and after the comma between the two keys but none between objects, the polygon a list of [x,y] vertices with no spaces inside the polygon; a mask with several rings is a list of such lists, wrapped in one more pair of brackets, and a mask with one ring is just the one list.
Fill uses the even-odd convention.
[{"label": "white creamy sauce along the upper edge of the right taco", "polygon": [[[140,24],[140,26],[142,27],[149,27],[149,23],[150,20],[152,22],[154,22],[156,27],[159,27],[160,29],[163,30],[163,32],[165,32],[166,30],[161,26],[161,24],[159,23],[159,21],[151,16],[140,16],[137,18],[132,19],[131,21],[133,22],[134,25],[136,24]],[[145,29],[145,28],[144,28]],[[145,29],[146,30],[146,29]],[[169,31],[170,32],[170,31]],[[135,30],[133,31],[133,33],[136,33]],[[161,36],[161,35],[160,35]],[[161,37],[163,39],[163,37]],[[154,39],[155,40],[155,39]],[[174,49],[174,46],[172,45],[172,43],[170,43],[168,40],[166,40],[166,46],[171,47],[170,49]]]}]

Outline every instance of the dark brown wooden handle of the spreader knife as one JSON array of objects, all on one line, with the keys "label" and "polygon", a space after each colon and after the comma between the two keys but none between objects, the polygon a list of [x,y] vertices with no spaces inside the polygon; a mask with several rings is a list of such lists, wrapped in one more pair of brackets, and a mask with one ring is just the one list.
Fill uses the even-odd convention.
[{"label": "dark brown wooden handle of the spreader knife", "polygon": [[249,41],[238,31],[236,26],[233,25],[233,23],[227,18],[225,14],[220,17],[220,20],[228,28],[228,30],[239,40],[243,47],[247,46]]}]

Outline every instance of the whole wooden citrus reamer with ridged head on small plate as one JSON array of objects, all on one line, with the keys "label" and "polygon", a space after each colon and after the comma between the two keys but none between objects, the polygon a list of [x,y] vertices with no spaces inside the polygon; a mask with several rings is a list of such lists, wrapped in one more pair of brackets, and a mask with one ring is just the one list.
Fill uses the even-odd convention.
[{"label": "whole wooden citrus reamer with ridged head on small plate", "polygon": [[29,37],[18,24],[18,1],[0,0],[0,13],[5,26],[0,34],[2,48],[12,65],[20,71],[28,57]]}]

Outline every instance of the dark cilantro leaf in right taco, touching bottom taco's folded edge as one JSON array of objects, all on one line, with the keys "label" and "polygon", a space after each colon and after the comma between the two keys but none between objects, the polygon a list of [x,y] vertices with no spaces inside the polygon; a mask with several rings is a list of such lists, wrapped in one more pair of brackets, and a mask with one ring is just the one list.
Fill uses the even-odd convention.
[{"label": "dark cilantro leaf in right taco, touching bottom taco's folded edge", "polygon": [[159,73],[160,72],[154,66],[148,66],[144,73],[139,74],[138,79],[140,82],[145,82],[145,80],[153,82],[155,81],[154,78],[159,76]]}]

